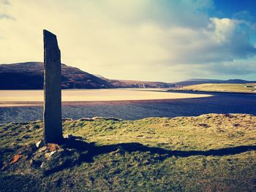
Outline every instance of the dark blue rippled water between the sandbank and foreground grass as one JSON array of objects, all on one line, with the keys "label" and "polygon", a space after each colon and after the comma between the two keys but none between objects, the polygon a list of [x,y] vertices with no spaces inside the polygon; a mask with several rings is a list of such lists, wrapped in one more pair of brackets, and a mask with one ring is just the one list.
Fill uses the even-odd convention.
[{"label": "dark blue rippled water between the sandbank and foreground grass", "polygon": [[[247,113],[256,115],[256,95],[214,93],[214,96],[162,101],[105,101],[64,105],[63,118],[95,116],[136,120],[148,117],[196,116],[206,113]],[[42,107],[1,107],[0,123],[42,119]]]}]

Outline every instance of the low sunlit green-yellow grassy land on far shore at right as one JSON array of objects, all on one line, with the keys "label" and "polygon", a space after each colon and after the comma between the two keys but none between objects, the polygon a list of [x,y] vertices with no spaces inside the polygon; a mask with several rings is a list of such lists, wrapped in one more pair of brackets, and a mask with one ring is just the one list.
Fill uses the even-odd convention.
[{"label": "low sunlit green-yellow grassy land on far shore at right", "polygon": [[[245,85],[252,85],[253,88],[245,88]],[[200,85],[189,85],[178,90],[184,91],[219,91],[219,92],[241,92],[241,93],[256,93],[254,92],[256,83],[238,84],[238,83],[205,83]]]}]

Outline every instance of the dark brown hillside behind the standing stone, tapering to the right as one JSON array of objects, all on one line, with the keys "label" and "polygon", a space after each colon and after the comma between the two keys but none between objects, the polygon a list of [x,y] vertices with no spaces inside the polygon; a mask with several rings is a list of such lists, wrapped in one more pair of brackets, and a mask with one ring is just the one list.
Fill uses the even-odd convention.
[{"label": "dark brown hillside behind the standing stone, tapering to the right", "polygon": [[[43,63],[0,64],[0,89],[42,89]],[[62,88],[170,88],[171,83],[109,80],[61,64]]]}]

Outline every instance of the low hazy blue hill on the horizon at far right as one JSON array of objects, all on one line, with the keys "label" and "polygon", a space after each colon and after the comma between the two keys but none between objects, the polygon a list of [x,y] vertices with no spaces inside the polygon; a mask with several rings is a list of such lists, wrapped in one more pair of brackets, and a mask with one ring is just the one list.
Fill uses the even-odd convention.
[{"label": "low hazy blue hill on the horizon at far right", "polygon": [[176,87],[184,87],[188,85],[199,85],[205,83],[255,83],[256,81],[247,81],[247,80],[211,80],[211,79],[189,79],[181,82],[174,82]]}]

